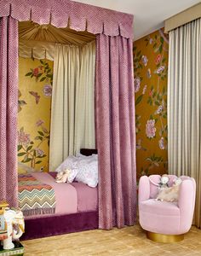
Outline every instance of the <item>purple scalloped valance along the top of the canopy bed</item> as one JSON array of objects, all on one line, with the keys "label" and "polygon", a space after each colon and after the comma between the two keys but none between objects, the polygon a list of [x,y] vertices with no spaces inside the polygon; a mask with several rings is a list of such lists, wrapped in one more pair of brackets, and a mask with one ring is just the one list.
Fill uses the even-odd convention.
[{"label": "purple scalloped valance along the top of the canopy bed", "polygon": [[133,15],[70,0],[0,0],[0,17],[133,38]]}]

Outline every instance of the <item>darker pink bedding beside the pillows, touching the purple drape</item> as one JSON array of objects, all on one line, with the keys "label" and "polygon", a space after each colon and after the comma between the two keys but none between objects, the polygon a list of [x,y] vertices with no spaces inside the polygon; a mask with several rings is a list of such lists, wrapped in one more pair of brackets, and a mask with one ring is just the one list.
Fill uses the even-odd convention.
[{"label": "darker pink bedding beside the pillows, touching the purple drape", "polygon": [[90,188],[84,183],[72,183],[78,195],[78,212],[98,210],[98,188]]}]

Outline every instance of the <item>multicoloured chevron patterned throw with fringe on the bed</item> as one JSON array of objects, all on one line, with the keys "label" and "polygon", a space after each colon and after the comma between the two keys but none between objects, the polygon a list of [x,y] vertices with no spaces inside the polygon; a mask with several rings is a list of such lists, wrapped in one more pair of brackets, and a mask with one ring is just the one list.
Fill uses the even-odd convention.
[{"label": "multicoloured chevron patterned throw with fringe on the bed", "polygon": [[32,174],[18,176],[18,197],[25,216],[55,212],[55,190]]}]

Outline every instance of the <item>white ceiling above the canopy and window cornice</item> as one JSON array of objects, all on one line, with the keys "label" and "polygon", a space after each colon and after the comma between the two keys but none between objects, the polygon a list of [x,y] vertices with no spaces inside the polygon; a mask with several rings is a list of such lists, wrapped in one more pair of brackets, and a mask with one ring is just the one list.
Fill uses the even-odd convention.
[{"label": "white ceiling above the canopy and window cornice", "polygon": [[[72,0],[73,1],[73,0]],[[164,20],[200,0],[76,0],[134,15],[135,40],[164,26]]]}]

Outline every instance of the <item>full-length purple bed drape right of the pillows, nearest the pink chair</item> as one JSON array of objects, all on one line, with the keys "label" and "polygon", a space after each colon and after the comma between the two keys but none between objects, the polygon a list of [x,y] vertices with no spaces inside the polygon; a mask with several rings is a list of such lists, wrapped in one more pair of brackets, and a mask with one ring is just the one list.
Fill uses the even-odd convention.
[{"label": "full-length purple bed drape right of the pillows, nearest the pink chair", "polygon": [[135,106],[132,40],[96,37],[96,132],[99,226],[134,224]]}]

